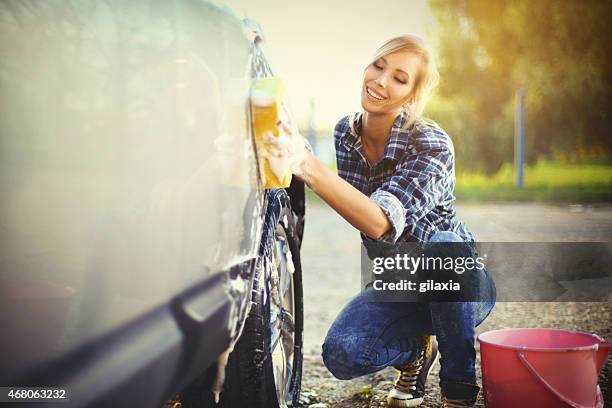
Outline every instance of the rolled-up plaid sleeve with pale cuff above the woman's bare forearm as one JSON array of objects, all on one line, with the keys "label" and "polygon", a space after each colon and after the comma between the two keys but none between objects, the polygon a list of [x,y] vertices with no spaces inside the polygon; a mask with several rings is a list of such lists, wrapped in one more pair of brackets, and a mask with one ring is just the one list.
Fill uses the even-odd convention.
[{"label": "rolled-up plaid sleeve with pale cuff above the woman's bare forearm", "polygon": [[370,198],[383,210],[392,228],[380,240],[395,243],[438,205],[448,188],[452,153],[446,149],[406,154],[392,176]]}]

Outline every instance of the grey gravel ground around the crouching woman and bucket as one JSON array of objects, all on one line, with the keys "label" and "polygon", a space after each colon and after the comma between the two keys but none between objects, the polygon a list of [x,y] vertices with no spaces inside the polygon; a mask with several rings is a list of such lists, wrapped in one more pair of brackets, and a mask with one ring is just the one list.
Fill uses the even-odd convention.
[{"label": "grey gravel ground around the crouching woman and bucket", "polygon": [[[480,241],[610,241],[612,206],[531,203],[458,204],[458,218]],[[304,371],[302,407],[386,406],[397,371],[386,368],[350,381],[334,378],[321,360],[321,344],[337,313],[359,292],[359,234],[323,204],[310,203],[302,246]],[[612,339],[612,302],[497,303],[478,333],[508,327],[579,329]],[[477,345],[478,347],[478,345]],[[602,370],[604,399],[612,401],[612,359]],[[422,407],[438,407],[438,368]],[[478,361],[478,372],[480,361]],[[484,406],[482,401],[480,407]]]}]

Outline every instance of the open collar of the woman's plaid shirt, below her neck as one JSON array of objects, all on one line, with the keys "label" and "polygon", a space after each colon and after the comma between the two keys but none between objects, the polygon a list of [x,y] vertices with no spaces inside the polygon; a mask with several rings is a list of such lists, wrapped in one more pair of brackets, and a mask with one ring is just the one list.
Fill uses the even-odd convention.
[{"label": "open collar of the woman's plaid shirt, below her neck", "polygon": [[[352,131],[351,127],[345,133],[344,146],[349,149],[358,149],[361,152],[361,128],[362,128],[362,112],[355,115],[354,129],[356,134]],[[350,118],[349,118],[350,120]],[[385,152],[382,159],[389,159],[392,161],[399,161],[403,154],[408,150],[408,146],[412,141],[412,136],[409,130],[401,130],[402,126],[408,120],[408,114],[405,110],[402,110],[399,115],[395,118],[391,131],[389,132],[389,139],[385,145]],[[381,159],[381,160],[382,160]]]}]

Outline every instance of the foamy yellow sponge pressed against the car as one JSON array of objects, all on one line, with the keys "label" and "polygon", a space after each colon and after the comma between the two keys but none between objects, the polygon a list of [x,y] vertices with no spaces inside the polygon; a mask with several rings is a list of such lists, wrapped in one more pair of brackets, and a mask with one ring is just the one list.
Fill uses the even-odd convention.
[{"label": "foamy yellow sponge pressed against the car", "polygon": [[284,188],[291,184],[289,158],[276,156],[266,141],[269,136],[283,137],[276,127],[276,122],[280,118],[283,98],[284,88],[278,78],[269,77],[255,80],[251,93],[251,117],[264,188]]}]

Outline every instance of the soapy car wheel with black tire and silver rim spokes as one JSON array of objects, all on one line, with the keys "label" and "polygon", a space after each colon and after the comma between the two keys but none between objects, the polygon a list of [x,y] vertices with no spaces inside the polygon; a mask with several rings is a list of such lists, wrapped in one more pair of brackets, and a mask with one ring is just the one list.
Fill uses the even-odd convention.
[{"label": "soapy car wheel with black tire and silver rim spokes", "polygon": [[229,356],[219,403],[210,391],[217,372],[214,364],[181,394],[183,407],[298,406],[303,344],[298,217],[285,190],[270,190],[267,201],[251,308]]}]

